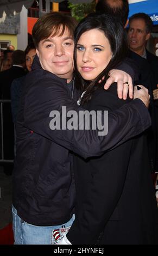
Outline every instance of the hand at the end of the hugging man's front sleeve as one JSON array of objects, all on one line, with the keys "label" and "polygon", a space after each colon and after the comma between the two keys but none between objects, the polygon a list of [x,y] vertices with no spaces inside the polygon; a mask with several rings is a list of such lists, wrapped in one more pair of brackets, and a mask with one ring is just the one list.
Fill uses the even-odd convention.
[{"label": "hand at the end of the hugging man's front sleeve", "polygon": [[141,88],[141,90],[137,89],[137,86],[134,87],[134,99],[140,99],[143,101],[143,103],[146,105],[146,107],[149,107],[150,103],[150,95],[148,93],[148,89],[144,86],[138,86]]}]

